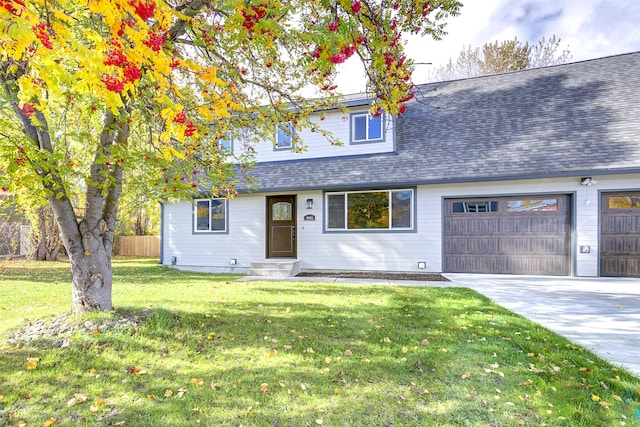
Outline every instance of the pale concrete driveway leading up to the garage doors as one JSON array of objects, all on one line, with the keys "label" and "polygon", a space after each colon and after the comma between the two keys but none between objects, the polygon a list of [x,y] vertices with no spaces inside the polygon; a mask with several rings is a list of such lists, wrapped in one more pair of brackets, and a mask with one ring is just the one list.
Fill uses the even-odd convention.
[{"label": "pale concrete driveway leading up to the garage doors", "polygon": [[640,279],[445,276],[640,377]]}]

